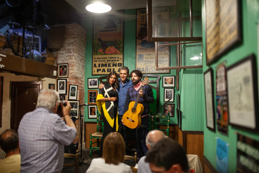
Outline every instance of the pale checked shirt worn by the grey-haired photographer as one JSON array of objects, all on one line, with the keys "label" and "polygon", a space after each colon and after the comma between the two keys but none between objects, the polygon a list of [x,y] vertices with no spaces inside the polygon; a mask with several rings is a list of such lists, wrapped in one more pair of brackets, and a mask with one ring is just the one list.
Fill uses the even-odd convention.
[{"label": "pale checked shirt worn by the grey-haired photographer", "polygon": [[18,128],[21,172],[61,172],[64,145],[76,137],[76,129],[45,108],[26,113]]}]

